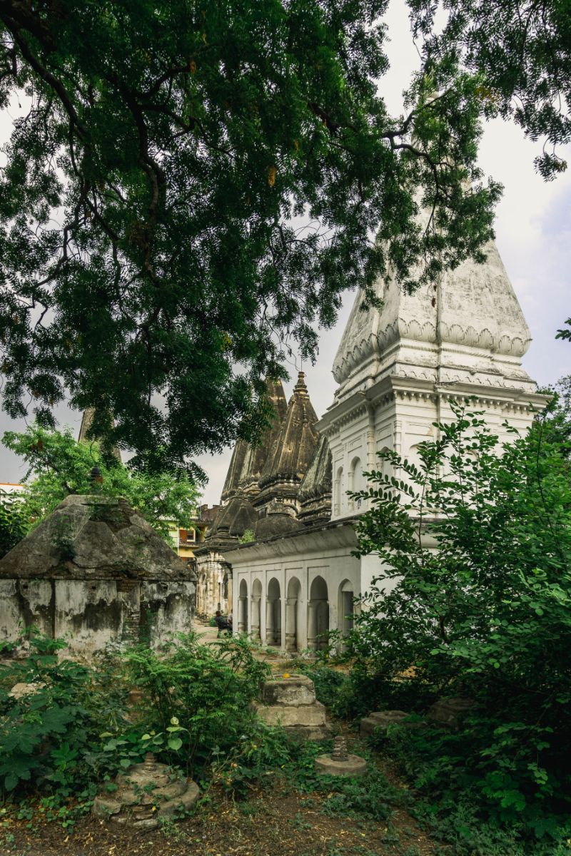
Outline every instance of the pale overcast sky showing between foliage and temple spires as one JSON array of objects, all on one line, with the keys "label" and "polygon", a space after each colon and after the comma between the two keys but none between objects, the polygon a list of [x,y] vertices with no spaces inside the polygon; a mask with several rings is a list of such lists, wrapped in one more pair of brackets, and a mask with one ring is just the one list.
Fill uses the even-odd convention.
[{"label": "pale overcast sky showing between foliage and temple spires", "polygon": [[[390,72],[381,81],[390,110],[401,111],[401,92],[410,74],[418,68],[419,55],[413,45],[403,0],[392,0],[389,14]],[[9,133],[10,116],[0,114],[0,138]],[[515,293],[520,300],[527,324],[532,331],[532,344],[524,357],[527,372],[541,385],[555,383],[558,377],[571,373],[571,343],[555,339],[556,330],[571,315],[568,299],[571,277],[571,170],[556,181],[545,183],[533,168],[539,144],[524,140],[519,128],[495,120],[485,127],[480,164],[486,175],[493,175],[504,186],[503,199],[497,208],[497,246],[508,270]],[[571,162],[571,151],[568,152]],[[338,323],[323,331],[318,361],[303,366],[313,406],[320,416],[330,406],[335,390],[331,366],[336,348],[353,305],[354,294],[346,294]],[[294,385],[285,384],[286,395]],[[192,405],[191,405],[192,407]],[[62,425],[79,430],[80,413],[64,408],[57,411]],[[0,431],[20,430],[0,414]],[[204,490],[204,502],[219,502],[229,465],[231,449],[223,455],[202,455],[200,465],[210,480]],[[23,469],[20,461],[7,449],[0,448],[0,482],[16,482]]]}]

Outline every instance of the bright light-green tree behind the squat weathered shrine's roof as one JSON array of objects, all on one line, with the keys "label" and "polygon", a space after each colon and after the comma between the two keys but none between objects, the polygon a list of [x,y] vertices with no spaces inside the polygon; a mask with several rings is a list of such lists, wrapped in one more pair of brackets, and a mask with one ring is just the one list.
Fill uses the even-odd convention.
[{"label": "bright light-green tree behind the squat weathered shrine's roof", "polygon": [[[31,425],[21,433],[6,431],[2,442],[27,463],[21,513],[28,528],[70,493],[94,491],[124,496],[163,536],[168,535],[169,521],[190,526],[196,516],[199,492],[186,473],[130,472],[112,455],[103,455],[98,443],[76,441],[70,429]],[[100,481],[93,481],[93,467],[99,468]]]}]

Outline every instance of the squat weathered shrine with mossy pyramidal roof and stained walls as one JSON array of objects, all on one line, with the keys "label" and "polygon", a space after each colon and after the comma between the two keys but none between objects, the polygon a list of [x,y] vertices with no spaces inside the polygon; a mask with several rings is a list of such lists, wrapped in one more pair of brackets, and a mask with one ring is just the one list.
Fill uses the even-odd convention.
[{"label": "squat weathered shrine with mossy pyramidal roof and stained walls", "polygon": [[122,499],[71,495],[0,560],[0,639],[35,625],[89,656],[192,626],[195,574]]}]

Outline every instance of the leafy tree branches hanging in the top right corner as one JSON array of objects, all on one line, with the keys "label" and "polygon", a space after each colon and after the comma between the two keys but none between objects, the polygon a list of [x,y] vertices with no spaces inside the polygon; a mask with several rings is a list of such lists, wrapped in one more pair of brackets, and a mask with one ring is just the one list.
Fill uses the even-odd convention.
[{"label": "leafy tree branches hanging in the top right corner", "polygon": [[[513,118],[532,140],[544,140],[538,171],[552,179],[567,169],[557,146],[571,140],[571,15],[568,0],[407,0],[413,32],[425,39],[428,72],[459,62],[483,75],[482,96]],[[547,144],[547,145],[545,145]]]}]

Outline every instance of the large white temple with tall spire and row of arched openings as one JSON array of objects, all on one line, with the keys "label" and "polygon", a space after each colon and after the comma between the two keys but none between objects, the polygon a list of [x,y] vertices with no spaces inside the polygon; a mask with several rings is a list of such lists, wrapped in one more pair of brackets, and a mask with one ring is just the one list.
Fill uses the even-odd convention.
[{"label": "large white temple with tall spire and row of arched openings", "polygon": [[[530,333],[494,244],[483,265],[467,261],[412,295],[379,281],[378,297],[382,311],[362,311],[363,295],[356,295],[333,366],[339,387],[324,416],[313,422],[312,408],[300,409],[303,378],[289,402],[290,427],[293,419],[299,436],[311,434],[312,461],[298,437],[303,466],[280,473],[288,490],[270,504],[256,499],[268,473],[259,494],[247,497],[240,484],[252,491],[253,479],[243,473],[229,502],[241,496],[240,514],[247,509],[254,540],[217,542],[217,559],[232,578],[236,632],[289,651],[315,649],[327,629],[347,631],[354,596],[382,572],[377,556],[351,555],[354,520],[365,508],[354,508],[347,494],[365,485],[362,473],[376,467],[379,450],[414,461],[418,444],[435,436],[433,423],[452,419],[449,402],[467,396],[478,396],[478,409],[500,436],[504,420],[525,430],[544,406],[521,367]],[[274,430],[265,458],[274,461],[285,447],[291,458],[290,434]],[[272,528],[268,520],[288,525]],[[200,558],[198,572],[200,586]]]}]

